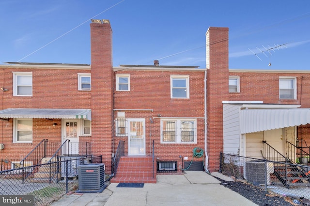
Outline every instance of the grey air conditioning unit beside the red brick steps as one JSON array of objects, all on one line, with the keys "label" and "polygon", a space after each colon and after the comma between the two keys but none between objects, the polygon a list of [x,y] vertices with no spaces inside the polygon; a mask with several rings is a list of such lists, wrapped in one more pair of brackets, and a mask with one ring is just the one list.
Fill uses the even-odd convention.
[{"label": "grey air conditioning unit beside the red brick steps", "polygon": [[90,163],[78,166],[78,189],[80,192],[97,192],[105,188],[105,164]]}]

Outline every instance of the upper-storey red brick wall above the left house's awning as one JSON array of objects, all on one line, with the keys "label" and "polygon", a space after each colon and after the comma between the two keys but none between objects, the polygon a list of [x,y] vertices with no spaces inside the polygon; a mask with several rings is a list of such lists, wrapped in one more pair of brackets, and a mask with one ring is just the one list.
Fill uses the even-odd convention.
[{"label": "upper-storey red brick wall above the left house's awning", "polygon": [[[32,96],[13,96],[13,73],[32,72]],[[9,89],[1,95],[1,109],[7,108],[84,108],[91,107],[91,92],[78,90],[78,73],[90,70],[75,69],[16,69],[13,66],[0,71],[1,87]]]}]

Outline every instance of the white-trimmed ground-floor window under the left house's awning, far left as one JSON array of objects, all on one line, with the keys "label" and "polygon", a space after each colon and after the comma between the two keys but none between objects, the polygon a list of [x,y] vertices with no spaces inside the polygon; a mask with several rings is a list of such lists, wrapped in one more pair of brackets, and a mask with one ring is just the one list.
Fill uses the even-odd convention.
[{"label": "white-trimmed ground-floor window under the left house's awning, far left", "polygon": [[15,143],[32,143],[32,119],[14,119]]}]

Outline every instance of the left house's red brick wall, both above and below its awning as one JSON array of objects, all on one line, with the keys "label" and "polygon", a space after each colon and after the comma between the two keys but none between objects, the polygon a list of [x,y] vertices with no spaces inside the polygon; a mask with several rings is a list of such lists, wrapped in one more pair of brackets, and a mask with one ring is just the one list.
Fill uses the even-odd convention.
[{"label": "left house's red brick wall, both above and below its awning", "polygon": [[[13,96],[13,73],[32,73],[32,96]],[[90,73],[89,69],[15,68],[10,65],[0,70],[0,109],[7,108],[91,108],[91,92],[78,90],[78,73]],[[52,124],[57,123],[56,127]],[[13,143],[13,119],[0,121],[0,159],[24,158],[43,139],[61,142],[61,119],[33,119],[32,143]]]}]

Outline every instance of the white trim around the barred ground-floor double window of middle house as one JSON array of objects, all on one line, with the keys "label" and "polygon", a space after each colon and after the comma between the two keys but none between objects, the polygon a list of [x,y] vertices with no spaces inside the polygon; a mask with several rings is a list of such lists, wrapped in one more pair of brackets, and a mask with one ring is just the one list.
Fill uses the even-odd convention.
[{"label": "white trim around the barred ground-floor double window of middle house", "polygon": [[[176,140],[175,142],[164,142],[163,141],[163,121],[175,120],[176,121]],[[181,141],[181,121],[194,121],[194,142],[182,142]],[[160,143],[161,144],[197,144],[197,119],[195,118],[161,118],[160,119]]]}]

